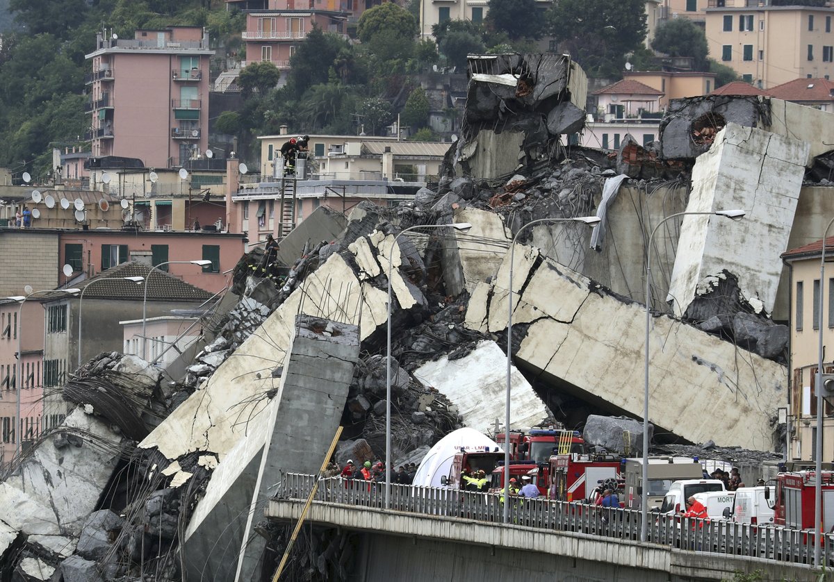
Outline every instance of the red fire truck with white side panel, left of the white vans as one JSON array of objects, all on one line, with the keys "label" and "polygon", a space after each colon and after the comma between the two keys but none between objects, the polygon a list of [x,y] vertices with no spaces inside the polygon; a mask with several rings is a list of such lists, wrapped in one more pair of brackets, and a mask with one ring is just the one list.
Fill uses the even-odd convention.
[{"label": "red fire truck with white side panel, left of the white vans", "polygon": [[550,499],[582,501],[599,484],[619,489],[622,463],[610,454],[555,454],[550,457]]}]

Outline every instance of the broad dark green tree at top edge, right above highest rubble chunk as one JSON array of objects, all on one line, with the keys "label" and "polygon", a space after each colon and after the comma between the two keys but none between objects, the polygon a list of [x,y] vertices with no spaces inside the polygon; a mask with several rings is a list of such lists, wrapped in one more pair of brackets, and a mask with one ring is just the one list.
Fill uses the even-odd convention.
[{"label": "broad dark green tree at top edge, right above highest rubble chunk", "polygon": [[625,54],[646,38],[643,0],[560,0],[547,12],[550,33],[590,77],[619,76]]}]

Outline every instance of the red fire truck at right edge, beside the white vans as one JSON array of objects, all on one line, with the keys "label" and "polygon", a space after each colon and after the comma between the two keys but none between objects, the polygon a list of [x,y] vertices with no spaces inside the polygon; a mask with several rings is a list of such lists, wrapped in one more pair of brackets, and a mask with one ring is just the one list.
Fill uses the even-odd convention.
[{"label": "red fire truck at right edge, beside the white vans", "polygon": [[[822,471],[821,531],[834,527],[834,471]],[[773,523],[794,529],[815,529],[816,471],[796,471],[776,475],[776,499],[768,499],[773,506]],[[769,495],[766,495],[766,498]]]}]

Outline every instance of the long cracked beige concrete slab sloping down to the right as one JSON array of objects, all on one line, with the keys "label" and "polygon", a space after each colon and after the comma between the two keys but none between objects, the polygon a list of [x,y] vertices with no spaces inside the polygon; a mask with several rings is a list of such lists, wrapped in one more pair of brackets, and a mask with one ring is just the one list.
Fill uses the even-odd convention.
[{"label": "long cracked beige concrete slab sloping down to the right", "polygon": [[[515,253],[525,260],[515,263],[514,288],[516,278],[527,284],[514,302],[513,323],[530,322],[515,364],[612,414],[642,418],[644,306],[625,303],[550,259],[538,263],[530,253]],[[473,294],[468,327],[506,325],[500,280]],[[650,346],[653,424],[694,443],[772,448],[768,427],[786,399],[783,366],[667,316],[652,319]],[[738,430],[738,419],[745,419],[745,430]]]}]

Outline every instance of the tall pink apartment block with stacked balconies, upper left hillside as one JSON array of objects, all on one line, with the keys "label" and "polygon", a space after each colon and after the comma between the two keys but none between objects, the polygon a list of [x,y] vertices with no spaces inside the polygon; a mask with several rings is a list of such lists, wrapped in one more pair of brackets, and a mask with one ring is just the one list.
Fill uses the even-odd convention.
[{"label": "tall pink apartment block with stacked balconies, upper left hillside", "polygon": [[91,156],[176,168],[208,146],[208,33],[199,27],[102,31],[86,55]]}]

